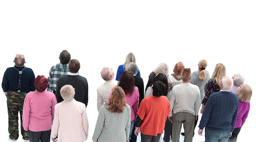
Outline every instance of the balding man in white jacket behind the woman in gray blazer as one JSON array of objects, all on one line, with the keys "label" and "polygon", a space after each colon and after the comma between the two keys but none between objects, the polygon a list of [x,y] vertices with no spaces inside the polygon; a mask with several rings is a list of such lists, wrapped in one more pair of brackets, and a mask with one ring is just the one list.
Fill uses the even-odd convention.
[{"label": "balding man in white jacket behind the woman in gray blazer", "polygon": [[103,104],[108,102],[108,97],[110,95],[111,89],[117,85],[117,80],[114,78],[114,71],[109,67],[103,67],[101,70],[101,77],[105,82],[101,86],[97,87],[97,109],[99,109]]}]

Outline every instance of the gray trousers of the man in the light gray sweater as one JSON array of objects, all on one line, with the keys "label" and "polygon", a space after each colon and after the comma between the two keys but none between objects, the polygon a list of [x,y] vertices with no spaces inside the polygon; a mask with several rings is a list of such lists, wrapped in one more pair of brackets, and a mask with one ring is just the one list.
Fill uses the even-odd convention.
[{"label": "gray trousers of the man in the light gray sweater", "polygon": [[181,127],[184,127],[184,142],[192,142],[195,125],[195,115],[188,112],[178,112],[173,114],[173,142],[180,142]]}]

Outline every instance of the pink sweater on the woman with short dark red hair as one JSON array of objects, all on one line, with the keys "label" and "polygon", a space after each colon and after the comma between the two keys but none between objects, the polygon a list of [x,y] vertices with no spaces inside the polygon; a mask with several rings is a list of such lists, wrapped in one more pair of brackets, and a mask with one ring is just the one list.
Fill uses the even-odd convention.
[{"label": "pink sweater on the woman with short dark red hair", "polygon": [[50,91],[33,91],[27,93],[22,115],[25,131],[48,131],[52,129],[56,96]]}]

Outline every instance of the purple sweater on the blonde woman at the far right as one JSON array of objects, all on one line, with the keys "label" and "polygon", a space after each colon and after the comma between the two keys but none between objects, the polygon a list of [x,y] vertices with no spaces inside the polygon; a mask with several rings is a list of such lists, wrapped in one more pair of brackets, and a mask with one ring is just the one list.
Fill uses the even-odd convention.
[{"label": "purple sweater on the blonde woman at the far right", "polygon": [[248,116],[249,110],[250,110],[250,102],[242,102],[239,100],[237,119],[236,119],[236,124],[234,128],[239,128],[243,126]]}]

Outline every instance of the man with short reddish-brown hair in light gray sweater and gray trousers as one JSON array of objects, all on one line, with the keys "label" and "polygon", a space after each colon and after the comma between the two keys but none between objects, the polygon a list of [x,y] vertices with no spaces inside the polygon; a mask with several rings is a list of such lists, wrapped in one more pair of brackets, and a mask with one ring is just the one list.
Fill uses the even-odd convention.
[{"label": "man with short reddish-brown hair in light gray sweater and gray trousers", "polygon": [[190,68],[183,69],[181,75],[182,83],[175,85],[171,91],[169,102],[173,111],[168,118],[173,121],[173,142],[180,142],[182,124],[185,131],[184,142],[192,142],[195,120],[198,119],[201,104],[201,95],[199,87],[190,83]]}]

